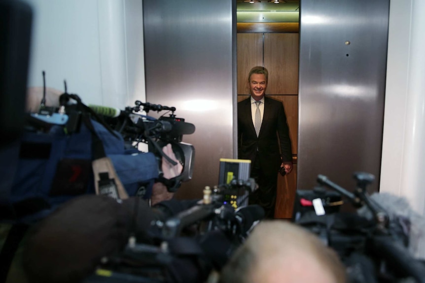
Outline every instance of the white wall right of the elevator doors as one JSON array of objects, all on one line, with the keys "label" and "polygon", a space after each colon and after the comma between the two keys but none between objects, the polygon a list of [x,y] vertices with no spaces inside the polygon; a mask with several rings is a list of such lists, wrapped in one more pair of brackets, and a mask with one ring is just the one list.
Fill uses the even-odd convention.
[{"label": "white wall right of the elevator doors", "polygon": [[381,192],[425,214],[425,1],[391,0]]}]

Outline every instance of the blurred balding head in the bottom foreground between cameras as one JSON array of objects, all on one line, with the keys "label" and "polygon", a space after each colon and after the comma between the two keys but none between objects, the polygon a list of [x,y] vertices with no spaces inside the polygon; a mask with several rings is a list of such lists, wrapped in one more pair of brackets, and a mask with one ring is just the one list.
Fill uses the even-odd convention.
[{"label": "blurred balding head in the bottom foreground between cameras", "polygon": [[344,283],[337,254],[304,228],[286,221],[259,223],[223,268],[220,283]]}]

